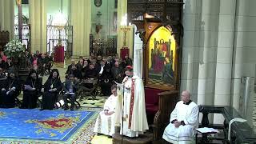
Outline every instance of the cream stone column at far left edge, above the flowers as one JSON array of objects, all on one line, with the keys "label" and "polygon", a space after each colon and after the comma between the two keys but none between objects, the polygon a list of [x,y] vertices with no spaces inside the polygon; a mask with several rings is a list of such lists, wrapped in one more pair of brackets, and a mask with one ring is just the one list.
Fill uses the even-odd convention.
[{"label": "cream stone column at far left edge, above the flowers", "polygon": [[0,30],[9,31],[14,39],[14,0],[0,0]]}]

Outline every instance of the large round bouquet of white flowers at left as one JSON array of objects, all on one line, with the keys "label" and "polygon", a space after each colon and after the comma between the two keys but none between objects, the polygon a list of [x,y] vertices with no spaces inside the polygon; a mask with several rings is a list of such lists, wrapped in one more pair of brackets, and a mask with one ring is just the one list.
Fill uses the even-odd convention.
[{"label": "large round bouquet of white flowers at left", "polygon": [[6,50],[4,51],[8,57],[17,57],[24,52],[25,47],[19,40],[11,40],[6,44]]}]

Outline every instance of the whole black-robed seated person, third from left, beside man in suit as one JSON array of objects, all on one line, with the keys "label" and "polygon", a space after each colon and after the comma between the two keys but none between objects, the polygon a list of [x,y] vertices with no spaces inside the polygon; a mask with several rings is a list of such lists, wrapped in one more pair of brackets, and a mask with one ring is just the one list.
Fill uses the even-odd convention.
[{"label": "whole black-robed seated person, third from left, beside man in suit", "polygon": [[54,110],[58,93],[62,90],[62,82],[57,69],[51,71],[49,78],[42,87],[42,108],[41,110]]}]

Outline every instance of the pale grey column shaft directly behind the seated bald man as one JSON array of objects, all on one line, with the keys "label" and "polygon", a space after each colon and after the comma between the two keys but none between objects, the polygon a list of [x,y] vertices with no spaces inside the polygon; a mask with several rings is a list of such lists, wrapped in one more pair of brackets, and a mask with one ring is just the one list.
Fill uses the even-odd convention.
[{"label": "pale grey column shaft directly behind the seated bald man", "polygon": [[[182,46],[181,92],[189,90],[194,102],[198,101],[198,9],[196,0],[185,0],[183,7],[184,37]],[[198,34],[198,32],[197,32]]]}]

